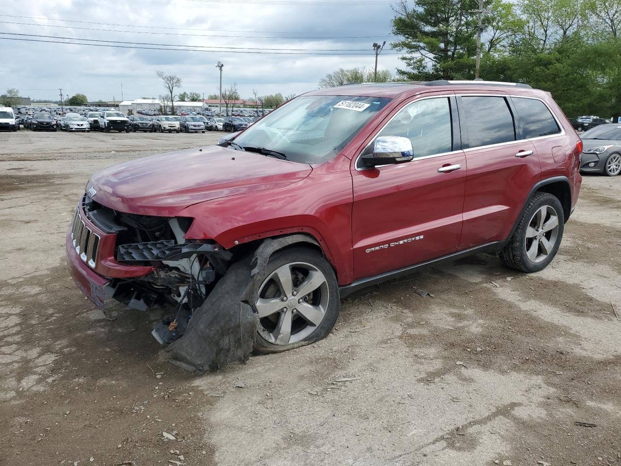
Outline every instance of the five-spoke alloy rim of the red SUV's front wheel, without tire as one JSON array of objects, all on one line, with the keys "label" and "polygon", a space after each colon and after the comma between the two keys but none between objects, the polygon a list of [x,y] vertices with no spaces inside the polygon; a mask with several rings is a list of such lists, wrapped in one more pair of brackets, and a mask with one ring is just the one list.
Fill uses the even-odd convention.
[{"label": "five-spoke alloy rim of the red SUV's front wheel, without tire", "polygon": [[261,283],[258,295],[258,332],[276,345],[306,339],[324,320],[329,304],[327,278],[306,262],[274,270]]}]

